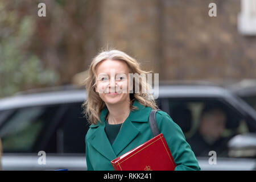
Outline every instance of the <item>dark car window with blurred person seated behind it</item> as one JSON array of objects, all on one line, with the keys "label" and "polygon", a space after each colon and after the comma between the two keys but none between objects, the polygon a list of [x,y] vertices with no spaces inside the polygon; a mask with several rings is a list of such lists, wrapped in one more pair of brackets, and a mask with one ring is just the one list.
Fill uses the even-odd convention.
[{"label": "dark car window with blurred person seated behind it", "polygon": [[234,135],[247,133],[245,119],[221,100],[168,98],[171,118],[183,131],[196,156],[228,156],[226,144]]}]

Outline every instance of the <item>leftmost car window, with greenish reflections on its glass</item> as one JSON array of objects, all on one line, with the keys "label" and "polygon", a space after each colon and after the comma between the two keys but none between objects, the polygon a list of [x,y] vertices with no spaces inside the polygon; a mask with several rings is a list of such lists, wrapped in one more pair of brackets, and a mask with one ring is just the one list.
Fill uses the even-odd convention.
[{"label": "leftmost car window, with greenish reflections on its glass", "polygon": [[[15,109],[0,127],[3,152],[38,152],[36,141],[54,117],[57,106],[36,106]],[[2,113],[10,113],[9,110]]]}]

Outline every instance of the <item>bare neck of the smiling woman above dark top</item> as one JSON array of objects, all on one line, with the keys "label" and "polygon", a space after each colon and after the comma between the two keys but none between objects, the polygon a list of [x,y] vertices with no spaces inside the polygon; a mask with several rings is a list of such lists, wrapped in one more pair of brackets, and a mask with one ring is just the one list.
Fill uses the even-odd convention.
[{"label": "bare neck of the smiling woman above dark top", "polygon": [[123,123],[130,114],[130,101],[114,105],[106,104],[106,106],[109,110],[108,123],[110,125]]}]

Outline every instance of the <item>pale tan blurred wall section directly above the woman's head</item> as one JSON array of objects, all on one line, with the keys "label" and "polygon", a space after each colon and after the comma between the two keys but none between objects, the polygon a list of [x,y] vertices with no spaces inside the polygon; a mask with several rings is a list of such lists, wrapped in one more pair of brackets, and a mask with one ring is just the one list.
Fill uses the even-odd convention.
[{"label": "pale tan blurred wall section directly above the woman's head", "polygon": [[101,45],[125,51],[147,71],[159,72],[158,6],[157,0],[102,1]]}]

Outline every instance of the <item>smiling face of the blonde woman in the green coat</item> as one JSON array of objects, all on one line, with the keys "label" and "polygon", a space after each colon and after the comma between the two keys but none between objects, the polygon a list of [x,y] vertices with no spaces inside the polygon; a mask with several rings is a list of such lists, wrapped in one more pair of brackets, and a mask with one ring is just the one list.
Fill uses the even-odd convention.
[{"label": "smiling face of the blonde woman in the green coat", "polygon": [[129,101],[129,67],[122,60],[104,60],[96,67],[96,92],[106,105]]}]

